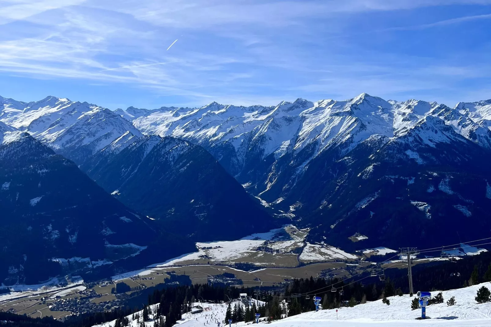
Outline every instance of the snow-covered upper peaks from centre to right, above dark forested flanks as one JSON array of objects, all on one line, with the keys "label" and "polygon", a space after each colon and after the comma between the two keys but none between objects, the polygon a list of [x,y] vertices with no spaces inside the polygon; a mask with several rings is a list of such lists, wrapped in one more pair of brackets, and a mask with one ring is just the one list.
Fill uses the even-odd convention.
[{"label": "snow-covered upper peaks from centre to right, above dark forested flanks", "polygon": [[[455,133],[450,139],[464,136],[483,148],[491,147],[491,100],[449,108],[418,100],[385,101],[363,93],[346,101],[297,99],[272,107],[214,102],[195,109],[130,107],[116,112],[142,133],[203,145],[242,184],[247,184],[248,191],[271,201],[288,192],[305,166],[322,152],[336,147],[343,155],[373,136],[387,141],[405,136],[419,125],[428,124],[428,116],[440,118],[452,128]],[[429,145],[445,141],[435,135],[421,136]],[[277,164],[283,156],[292,157],[291,164],[297,171],[281,182]],[[250,174],[251,165],[261,167]],[[270,192],[276,183],[281,183],[283,193]]]}]

